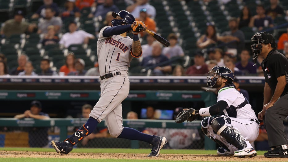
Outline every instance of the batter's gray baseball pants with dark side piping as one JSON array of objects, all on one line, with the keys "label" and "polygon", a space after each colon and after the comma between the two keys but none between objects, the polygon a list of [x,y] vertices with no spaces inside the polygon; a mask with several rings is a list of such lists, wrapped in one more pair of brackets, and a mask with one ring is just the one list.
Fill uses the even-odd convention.
[{"label": "batter's gray baseball pants with dark side piping", "polygon": [[101,96],[90,113],[99,123],[105,118],[109,133],[118,137],[123,130],[122,101],[129,93],[127,71],[101,81]]}]

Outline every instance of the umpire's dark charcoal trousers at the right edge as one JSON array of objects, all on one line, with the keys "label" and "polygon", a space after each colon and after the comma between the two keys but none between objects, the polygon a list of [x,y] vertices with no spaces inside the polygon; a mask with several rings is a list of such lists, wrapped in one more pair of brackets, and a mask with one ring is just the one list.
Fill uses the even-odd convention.
[{"label": "umpire's dark charcoal trousers at the right edge", "polygon": [[288,93],[280,97],[280,99],[265,112],[265,125],[268,134],[269,147],[288,144],[283,124],[283,120],[287,116]]}]

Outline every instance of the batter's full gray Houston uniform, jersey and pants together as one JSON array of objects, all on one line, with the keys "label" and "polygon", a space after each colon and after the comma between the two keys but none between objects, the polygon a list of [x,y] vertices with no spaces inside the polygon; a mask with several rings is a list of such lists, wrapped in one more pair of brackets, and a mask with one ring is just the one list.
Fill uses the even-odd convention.
[{"label": "batter's full gray Houston uniform, jersey and pants together", "polygon": [[97,54],[100,76],[116,72],[121,75],[101,81],[101,96],[90,113],[90,117],[101,122],[104,118],[112,137],[118,137],[123,130],[122,101],[129,93],[128,67],[133,56],[130,54],[133,39],[126,36],[113,35],[104,37],[101,29],[97,42]]}]

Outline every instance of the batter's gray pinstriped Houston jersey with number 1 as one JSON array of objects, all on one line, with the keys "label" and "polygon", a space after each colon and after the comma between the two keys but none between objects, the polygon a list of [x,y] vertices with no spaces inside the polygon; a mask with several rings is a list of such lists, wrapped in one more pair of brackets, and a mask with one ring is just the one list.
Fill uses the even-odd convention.
[{"label": "batter's gray pinstriped Houston jersey with number 1", "polygon": [[104,37],[103,31],[108,27],[111,26],[106,26],[100,30],[97,42],[100,75],[112,71],[128,71],[130,61],[133,58],[130,54],[133,39],[129,36],[120,35]]}]

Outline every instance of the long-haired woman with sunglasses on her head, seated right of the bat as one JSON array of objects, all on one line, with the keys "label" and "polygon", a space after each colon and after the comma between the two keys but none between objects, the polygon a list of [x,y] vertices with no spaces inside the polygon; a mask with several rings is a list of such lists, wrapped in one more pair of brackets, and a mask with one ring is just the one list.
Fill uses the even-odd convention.
[{"label": "long-haired woman with sunglasses on her head, seated right of the bat", "polygon": [[217,32],[213,24],[207,23],[206,33],[197,40],[197,47],[200,49],[214,47],[217,43]]}]

